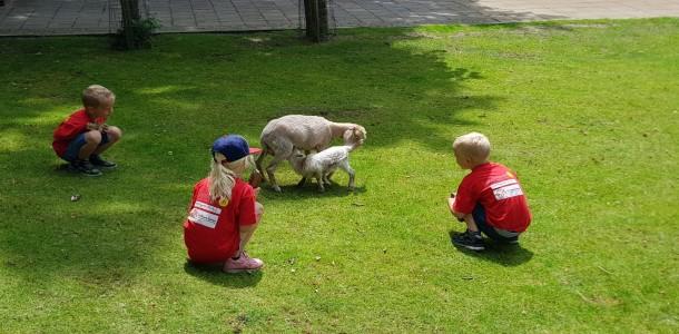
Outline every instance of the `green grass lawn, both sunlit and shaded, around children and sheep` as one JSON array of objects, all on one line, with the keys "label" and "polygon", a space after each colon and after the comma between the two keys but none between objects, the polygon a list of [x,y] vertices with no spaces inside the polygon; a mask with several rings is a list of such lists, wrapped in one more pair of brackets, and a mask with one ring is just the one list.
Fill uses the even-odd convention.
[{"label": "green grass lawn, both sunlit and shaded, around children and sheep", "polygon": [[[679,20],[0,39],[0,332],[679,331]],[[101,84],[125,131],[85,178],[51,132]],[[186,264],[181,223],[219,135],[362,124],[357,191],[263,189],[266,268]],[[518,248],[455,249],[452,140],[488,135],[534,220]],[[70,202],[73,194],[79,202]]]}]

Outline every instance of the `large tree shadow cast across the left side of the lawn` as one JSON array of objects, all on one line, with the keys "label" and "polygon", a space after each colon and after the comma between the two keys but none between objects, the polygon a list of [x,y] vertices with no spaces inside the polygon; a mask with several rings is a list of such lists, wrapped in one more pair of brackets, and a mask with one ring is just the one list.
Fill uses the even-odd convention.
[{"label": "large tree shadow cast across the left side of the lawn", "polygon": [[[411,32],[358,30],[322,46],[307,46],[294,32],[160,36],[154,49],[125,55],[91,37],[0,39],[7,73],[0,79],[7,88],[0,90],[0,173],[10,176],[0,179],[0,250],[19,264],[10,272],[137,275],[167,252],[160,245],[180,238],[213,140],[228,131],[256,143],[266,120],[282,115],[365,125],[361,155],[404,141],[432,151],[447,147],[451,138],[437,127],[471,127],[456,114],[492,112],[500,98],[462,92],[485,75],[450,65],[445,50],[412,43],[421,37]],[[75,53],[97,56],[75,61]],[[130,77],[136,73],[144,76]],[[125,135],[107,153],[120,167],[91,179],[55,167],[59,159],[49,144],[79,92],[95,82],[116,92],[111,124]],[[315,185],[293,184],[277,194],[264,186],[262,195],[282,205],[368,190],[332,185],[319,194]],[[71,202],[72,195],[81,198]]]}]

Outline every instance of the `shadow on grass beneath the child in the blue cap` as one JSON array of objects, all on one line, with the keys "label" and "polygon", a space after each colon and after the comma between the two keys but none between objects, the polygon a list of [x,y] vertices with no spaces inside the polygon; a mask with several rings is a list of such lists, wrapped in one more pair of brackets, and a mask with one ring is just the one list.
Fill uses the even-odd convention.
[{"label": "shadow on grass beneath the child in the blue cap", "polygon": [[263,271],[228,274],[222,271],[222,264],[196,264],[188,259],[184,264],[184,272],[214,285],[234,288],[256,286],[264,277]]}]

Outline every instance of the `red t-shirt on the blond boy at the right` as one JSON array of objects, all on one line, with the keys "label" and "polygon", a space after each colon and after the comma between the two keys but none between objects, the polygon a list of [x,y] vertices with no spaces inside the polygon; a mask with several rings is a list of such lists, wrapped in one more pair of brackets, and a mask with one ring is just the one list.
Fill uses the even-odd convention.
[{"label": "red t-shirt on the blond boy at the right", "polygon": [[453,209],[471,214],[476,204],[485,209],[489,225],[512,232],[524,232],[531,224],[531,212],[516,175],[496,163],[472,169],[460,183]]}]

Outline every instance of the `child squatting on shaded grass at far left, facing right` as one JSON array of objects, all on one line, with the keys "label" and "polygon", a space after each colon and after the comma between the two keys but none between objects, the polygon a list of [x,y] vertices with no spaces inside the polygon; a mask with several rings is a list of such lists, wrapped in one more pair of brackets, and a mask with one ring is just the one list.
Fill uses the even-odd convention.
[{"label": "child squatting on shaded grass at far left, facing right", "polygon": [[99,176],[99,168],[117,165],[100,154],[120,140],[122,131],[106,124],[114,112],[116,96],[106,87],[92,85],[82,91],[82,109],[71,114],[55,130],[52,148],[69,168],[87,176]]}]

